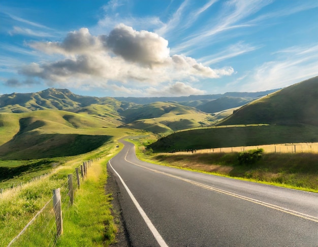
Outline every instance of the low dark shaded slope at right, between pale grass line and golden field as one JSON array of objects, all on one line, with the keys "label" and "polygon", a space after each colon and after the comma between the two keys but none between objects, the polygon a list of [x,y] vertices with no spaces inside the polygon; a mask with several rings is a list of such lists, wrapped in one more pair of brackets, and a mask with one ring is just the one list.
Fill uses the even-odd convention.
[{"label": "low dark shaded slope at right, between pale grass line and golden field", "polygon": [[209,149],[305,142],[318,142],[318,127],[309,125],[219,126],[176,132],[159,139],[149,147],[154,152],[169,152],[173,149]]}]

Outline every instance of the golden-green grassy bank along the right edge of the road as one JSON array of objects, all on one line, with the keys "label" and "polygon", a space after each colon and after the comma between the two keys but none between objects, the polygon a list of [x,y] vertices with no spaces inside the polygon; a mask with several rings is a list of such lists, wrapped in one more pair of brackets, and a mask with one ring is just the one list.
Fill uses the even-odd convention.
[{"label": "golden-green grassy bank along the right edge of the road", "polygon": [[240,164],[239,153],[156,153],[134,140],[139,159],[155,164],[318,193],[318,154],[264,153],[253,164]]}]

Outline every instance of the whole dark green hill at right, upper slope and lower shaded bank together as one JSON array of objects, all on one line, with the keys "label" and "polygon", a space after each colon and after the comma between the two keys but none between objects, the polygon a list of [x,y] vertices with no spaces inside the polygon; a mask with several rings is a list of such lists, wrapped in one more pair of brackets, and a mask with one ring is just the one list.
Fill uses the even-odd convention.
[{"label": "whole dark green hill at right, upper slope and lower shaded bank together", "polygon": [[252,101],[208,129],[173,133],[150,147],[172,149],[318,142],[318,77]]}]

